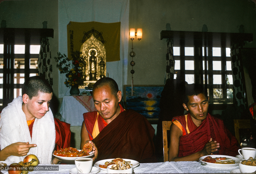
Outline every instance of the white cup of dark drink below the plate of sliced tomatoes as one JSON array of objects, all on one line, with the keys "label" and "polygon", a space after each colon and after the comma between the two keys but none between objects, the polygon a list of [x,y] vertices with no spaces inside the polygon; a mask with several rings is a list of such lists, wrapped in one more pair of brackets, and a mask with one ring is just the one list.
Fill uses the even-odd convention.
[{"label": "white cup of dark drink below the plate of sliced tomatoes", "polygon": [[92,158],[78,158],[75,165],[78,173],[90,173],[92,170]]}]

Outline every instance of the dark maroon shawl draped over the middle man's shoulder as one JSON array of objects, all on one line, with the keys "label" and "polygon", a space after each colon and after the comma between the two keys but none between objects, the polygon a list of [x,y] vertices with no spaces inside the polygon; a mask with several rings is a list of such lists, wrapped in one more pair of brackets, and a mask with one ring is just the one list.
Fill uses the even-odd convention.
[{"label": "dark maroon shawl draped over the middle man's shoulder", "polygon": [[[95,114],[94,112],[87,114]],[[140,163],[156,162],[153,136],[155,129],[134,110],[121,112],[92,141],[98,148],[98,160],[125,158]]]}]

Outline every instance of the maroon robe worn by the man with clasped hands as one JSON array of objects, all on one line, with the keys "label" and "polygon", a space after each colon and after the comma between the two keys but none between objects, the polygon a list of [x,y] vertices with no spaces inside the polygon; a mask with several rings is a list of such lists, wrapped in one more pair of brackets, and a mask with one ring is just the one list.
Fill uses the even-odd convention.
[{"label": "maroon robe worn by the man with clasped hands", "polygon": [[[190,117],[190,114],[188,117]],[[174,119],[184,122],[184,120],[181,120],[181,118],[182,117],[180,116],[174,117]],[[238,155],[239,147],[237,139],[224,126],[221,119],[208,114],[206,119],[202,121],[199,127],[190,131],[189,134],[180,137],[178,156],[187,156],[201,151],[205,144],[208,143],[210,138],[212,138],[213,141],[216,140],[220,144],[219,151],[214,155]]]}]

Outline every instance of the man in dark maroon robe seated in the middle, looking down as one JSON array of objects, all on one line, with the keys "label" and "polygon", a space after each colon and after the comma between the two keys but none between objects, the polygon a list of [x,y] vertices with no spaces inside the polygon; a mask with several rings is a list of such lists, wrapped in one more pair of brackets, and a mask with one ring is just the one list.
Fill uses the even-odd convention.
[{"label": "man in dark maroon robe seated in the middle, looking down", "polygon": [[99,79],[93,85],[92,97],[97,111],[83,114],[80,148],[88,142],[93,144],[95,161],[125,158],[156,162],[155,130],[143,115],[119,104],[122,92],[117,83],[108,77]]}]

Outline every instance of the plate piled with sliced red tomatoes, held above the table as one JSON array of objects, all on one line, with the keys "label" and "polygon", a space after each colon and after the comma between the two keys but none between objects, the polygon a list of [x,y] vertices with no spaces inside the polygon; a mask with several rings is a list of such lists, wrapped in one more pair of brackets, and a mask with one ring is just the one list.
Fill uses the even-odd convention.
[{"label": "plate piled with sliced red tomatoes, held above the table", "polygon": [[92,152],[93,145],[90,143],[87,143],[83,146],[82,150],[77,150],[73,147],[68,147],[64,149],[60,149],[57,151],[54,151],[52,154],[53,156],[62,159],[62,160],[75,160],[78,158],[89,158],[94,153]]}]

